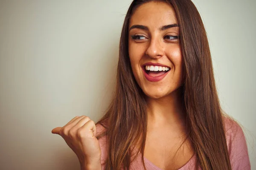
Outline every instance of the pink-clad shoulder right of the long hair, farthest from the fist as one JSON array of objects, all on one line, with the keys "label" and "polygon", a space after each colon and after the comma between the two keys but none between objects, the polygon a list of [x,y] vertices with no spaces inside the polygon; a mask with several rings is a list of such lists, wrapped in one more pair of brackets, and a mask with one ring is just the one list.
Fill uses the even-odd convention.
[{"label": "pink-clad shoulder right of the long hair, farthest from the fist", "polygon": [[229,117],[224,117],[223,122],[232,169],[250,170],[248,149],[242,128]]}]

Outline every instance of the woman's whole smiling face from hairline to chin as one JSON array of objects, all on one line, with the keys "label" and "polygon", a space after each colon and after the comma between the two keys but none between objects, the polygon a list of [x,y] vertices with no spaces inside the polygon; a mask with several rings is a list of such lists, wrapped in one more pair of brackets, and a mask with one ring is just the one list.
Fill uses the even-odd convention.
[{"label": "woman's whole smiling face from hairline to chin", "polygon": [[167,96],[182,83],[183,59],[175,11],[167,3],[139,6],[129,23],[129,57],[137,83],[154,99]]}]

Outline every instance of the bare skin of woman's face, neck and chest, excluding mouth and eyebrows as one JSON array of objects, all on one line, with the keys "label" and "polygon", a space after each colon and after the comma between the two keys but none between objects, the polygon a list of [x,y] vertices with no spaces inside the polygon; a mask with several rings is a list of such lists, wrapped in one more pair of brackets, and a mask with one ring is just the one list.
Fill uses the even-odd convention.
[{"label": "bare skin of woman's face, neck and chest, excluding mouth and eyebrows", "polygon": [[[135,79],[147,95],[148,129],[144,157],[163,170],[177,170],[194,155],[187,138],[186,122],[177,88],[183,82],[183,57],[177,36],[179,27],[159,28],[178,24],[175,11],[166,3],[150,2],[138,7],[129,28],[147,26],[148,30],[129,31],[129,57]],[[158,82],[148,81],[142,65],[161,63],[170,68]]]}]

